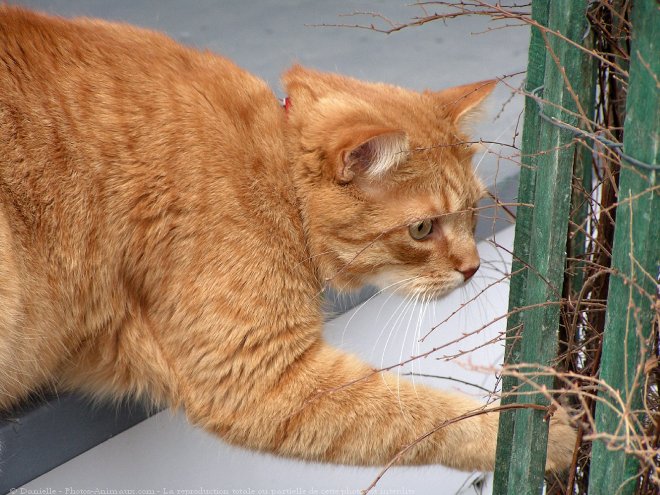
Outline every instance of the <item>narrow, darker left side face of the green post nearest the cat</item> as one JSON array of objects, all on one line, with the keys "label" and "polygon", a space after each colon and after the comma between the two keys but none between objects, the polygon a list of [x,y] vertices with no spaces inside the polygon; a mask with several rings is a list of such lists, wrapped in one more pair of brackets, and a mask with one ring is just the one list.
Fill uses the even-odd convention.
[{"label": "narrow, darker left side face of the green post nearest the cat", "polygon": [[[546,26],[548,24],[549,0],[536,0],[532,4],[532,19]],[[529,60],[527,65],[527,80],[525,90],[531,93],[543,86],[545,76],[545,42],[541,32],[532,28],[529,43]],[[520,169],[520,184],[518,186],[518,202],[532,203],[534,201],[534,186],[536,182],[536,151],[538,150],[540,138],[539,107],[531,97],[525,98],[525,114],[523,121],[522,148]],[[516,311],[525,304],[525,285],[527,271],[523,270],[529,259],[529,238],[532,228],[531,208],[519,207],[516,214],[516,235],[513,251],[515,257],[512,262],[509,286],[509,312],[512,313],[507,319],[506,345],[504,352],[504,364],[518,363],[520,346],[517,345],[518,332],[521,325],[521,314]],[[502,377],[502,391],[512,391],[518,386],[518,380],[510,375]],[[516,401],[514,395],[503,395],[502,405],[511,404]],[[509,481],[509,461],[511,460],[511,440],[513,439],[514,426],[513,412],[500,414],[499,429],[497,434],[497,454],[495,465],[495,479],[493,493],[506,493]]]}]

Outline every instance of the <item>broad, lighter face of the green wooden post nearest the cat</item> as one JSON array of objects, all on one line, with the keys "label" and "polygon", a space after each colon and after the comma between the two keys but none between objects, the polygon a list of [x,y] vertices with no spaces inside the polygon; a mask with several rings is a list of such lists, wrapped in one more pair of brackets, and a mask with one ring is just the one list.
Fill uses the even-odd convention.
[{"label": "broad, lighter face of the green wooden post nearest the cat", "polygon": [[[555,0],[550,4],[548,27],[565,37],[581,43],[587,31],[587,1]],[[569,112],[577,112],[567,82],[574,88],[584,86],[582,79],[590,74],[582,72],[583,51],[561,38],[547,36],[545,63],[544,112],[571,125],[579,119]],[[566,109],[566,111],[564,110]],[[526,305],[539,305],[561,298],[566,261],[566,234],[570,210],[572,163],[575,155],[573,134],[547,121],[540,124],[538,170],[534,197],[534,214],[529,237],[529,264]],[[559,306],[548,304],[526,310],[522,317],[520,362],[551,365],[557,352]],[[526,369],[533,385],[522,384],[520,391],[534,392],[541,387],[552,388],[551,376],[534,375],[538,369]],[[521,395],[518,403],[547,404],[540,393]],[[513,449],[509,470],[508,494],[538,495],[543,489],[548,425],[545,413],[535,409],[520,409],[515,413]]]}]

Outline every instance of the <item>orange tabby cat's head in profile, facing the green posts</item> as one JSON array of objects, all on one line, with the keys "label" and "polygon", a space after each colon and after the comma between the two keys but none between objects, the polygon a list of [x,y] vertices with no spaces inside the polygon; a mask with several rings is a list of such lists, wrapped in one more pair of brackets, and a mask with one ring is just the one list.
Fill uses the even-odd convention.
[{"label": "orange tabby cat's head in profile, facing the green posts", "polygon": [[440,296],[479,267],[466,122],[495,81],[414,92],[294,67],[289,147],[310,254],[339,290]]}]

